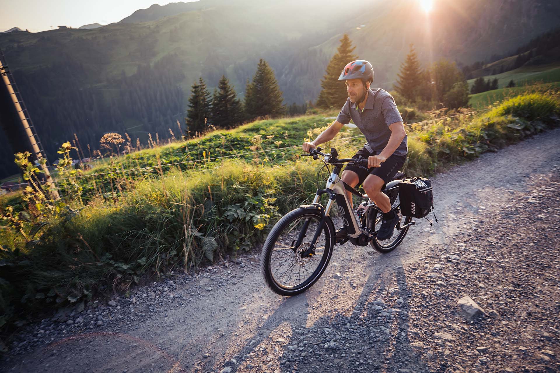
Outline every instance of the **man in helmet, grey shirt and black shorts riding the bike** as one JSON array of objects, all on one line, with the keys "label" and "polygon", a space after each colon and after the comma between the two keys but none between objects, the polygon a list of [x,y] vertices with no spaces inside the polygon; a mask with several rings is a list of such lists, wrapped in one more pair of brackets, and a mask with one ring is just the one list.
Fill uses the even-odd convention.
[{"label": "man in helmet, grey shirt and black shorts riding the bike", "polygon": [[[339,81],[346,81],[348,98],[337,119],[310,143],[304,143],[303,149],[309,153],[310,148],[330,141],[348,124],[350,120],[366,136],[367,143],[352,158],[360,155],[367,159],[367,169],[347,166],[342,173],[342,180],[351,187],[363,183],[363,189],[383,211],[381,228],[377,239],[385,240],[393,235],[398,215],[393,209],[389,197],[381,191],[385,183],[393,180],[407,159],[407,134],[403,119],[396,108],[395,100],[384,89],[371,89],[374,81],[374,69],[365,60],[356,60],[347,64],[340,73]],[[347,191],[352,205],[352,193]],[[337,230],[337,240],[347,236],[344,227]]]}]

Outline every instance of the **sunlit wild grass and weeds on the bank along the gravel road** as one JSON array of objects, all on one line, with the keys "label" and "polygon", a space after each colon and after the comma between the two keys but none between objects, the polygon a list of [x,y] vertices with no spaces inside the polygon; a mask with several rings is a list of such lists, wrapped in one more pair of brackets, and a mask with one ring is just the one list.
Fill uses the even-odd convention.
[{"label": "sunlit wild grass and weeds on the bank along the gravel road", "polygon": [[[429,176],[557,126],[559,113],[557,91],[525,92],[482,115],[414,124],[407,129],[404,171]],[[91,172],[204,159],[204,152],[212,156],[301,145],[328,122],[320,115],[256,121],[110,159]],[[345,130],[342,135],[356,131]],[[357,138],[333,141],[324,148],[334,145],[343,150],[342,157],[350,157],[362,144],[363,138]],[[93,185],[84,190],[88,203],[69,202],[56,219],[41,218],[18,196],[4,196],[0,208],[19,202],[31,218],[12,216],[16,223],[0,222],[0,327],[25,323],[38,310],[123,291],[145,275],[192,270],[262,243],[283,214],[311,200],[321,166],[302,159],[300,149],[274,152],[169,166],[161,173],[114,171],[84,178]],[[100,185],[112,188],[110,196]]]}]

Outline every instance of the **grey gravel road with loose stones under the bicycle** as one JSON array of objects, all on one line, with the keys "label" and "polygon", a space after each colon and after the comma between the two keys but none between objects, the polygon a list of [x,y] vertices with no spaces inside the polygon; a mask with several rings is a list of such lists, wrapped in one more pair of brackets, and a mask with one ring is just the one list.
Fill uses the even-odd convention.
[{"label": "grey gravel road with loose stones under the bicycle", "polygon": [[336,245],[305,294],[269,291],[254,251],[29,325],[0,371],[560,371],[560,129],[432,182],[440,224]]}]

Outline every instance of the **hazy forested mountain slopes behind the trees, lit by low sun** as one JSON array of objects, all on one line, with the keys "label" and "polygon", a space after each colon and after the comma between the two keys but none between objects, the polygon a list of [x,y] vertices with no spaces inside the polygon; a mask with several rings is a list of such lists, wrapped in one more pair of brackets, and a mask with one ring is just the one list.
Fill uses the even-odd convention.
[{"label": "hazy forested mountain slopes behind the trees, lit by low sun", "polygon": [[[164,137],[184,122],[194,81],[213,89],[225,74],[242,96],[260,58],[287,103],[315,101],[344,32],[374,65],[374,86],[391,89],[410,43],[423,63],[470,64],[558,23],[553,0],[434,0],[431,13],[413,0],[200,0],[153,5],[97,29],[0,34],[0,48],[55,157],[74,133],[91,149],[108,131]],[[0,159],[10,163],[5,143],[0,136]]]}]

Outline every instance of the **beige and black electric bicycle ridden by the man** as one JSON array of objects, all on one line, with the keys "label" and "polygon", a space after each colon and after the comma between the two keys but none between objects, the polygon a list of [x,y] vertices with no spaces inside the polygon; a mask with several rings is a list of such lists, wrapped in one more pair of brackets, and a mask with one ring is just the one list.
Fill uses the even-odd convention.
[{"label": "beige and black electric bicycle ridden by the man", "polygon": [[[331,148],[330,153],[326,154],[321,150],[321,148],[310,149],[309,154],[303,155],[309,155],[314,159],[321,157],[326,167],[329,164],[334,167],[326,180],[325,188],[318,188],[311,204],[300,205],[278,220],[263,245],[260,258],[263,278],[268,287],[278,295],[301,294],[323,275],[336,240],[334,223],[329,216],[335,202],[348,233],[346,238],[336,242],[341,245],[347,241],[358,246],[370,244],[376,251],[388,253],[403,241],[409,227],[416,224],[416,221],[412,221],[412,216],[402,216],[400,213],[399,184],[403,182],[405,174],[399,171],[395,174],[394,180],[386,183],[382,188],[389,197],[395,214],[399,215],[399,223],[396,225],[398,233],[394,239],[391,236],[388,240],[377,240],[376,226],[381,225],[382,211],[367,195],[358,192],[339,177],[342,167],[348,164],[367,168],[367,159],[361,156],[339,159],[335,148]],[[358,219],[353,213],[345,190],[351,191],[361,199],[368,199],[358,206]],[[329,200],[326,206],[323,206],[319,200],[325,193],[328,193]],[[297,273],[294,273],[296,267]],[[281,268],[284,268],[284,271],[279,273]]]}]

